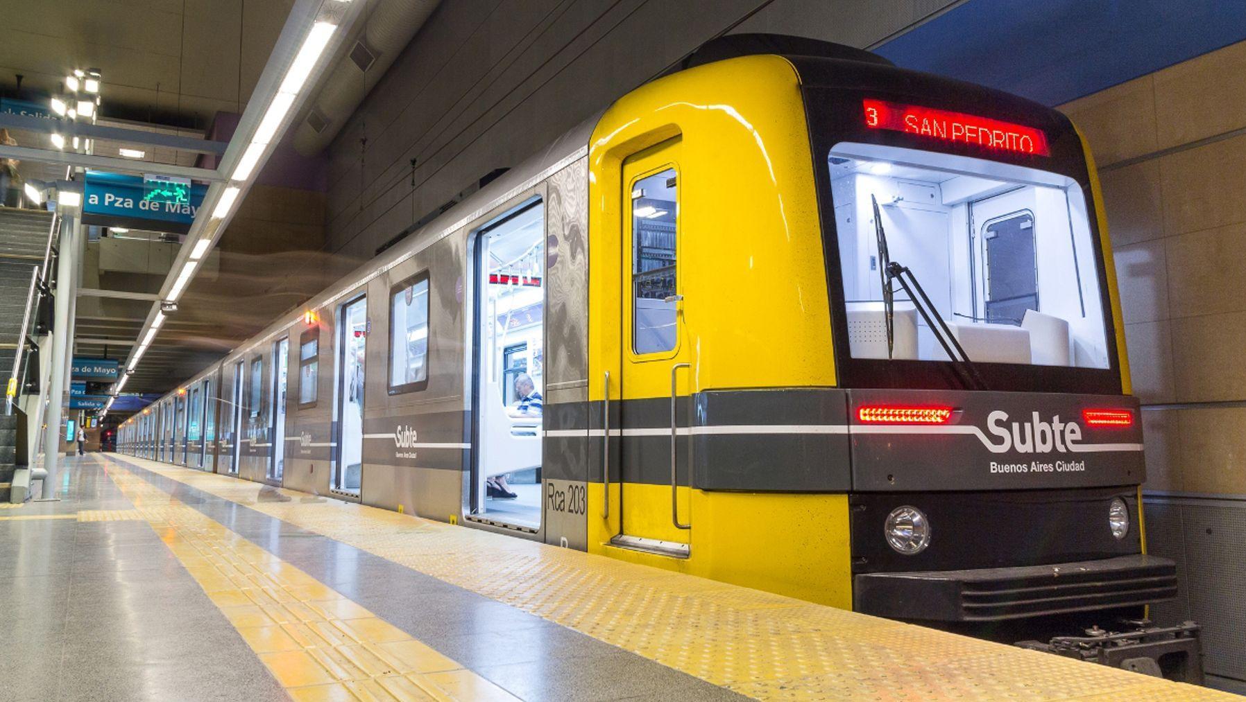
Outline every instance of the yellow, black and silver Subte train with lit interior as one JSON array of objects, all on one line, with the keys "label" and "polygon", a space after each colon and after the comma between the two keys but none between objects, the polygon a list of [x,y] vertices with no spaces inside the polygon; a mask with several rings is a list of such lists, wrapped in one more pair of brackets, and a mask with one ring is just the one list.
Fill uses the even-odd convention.
[{"label": "yellow, black and silver Subte train with lit interior", "polygon": [[703,46],[120,451],[996,639],[1177,586],[1084,139],[812,40]]}]

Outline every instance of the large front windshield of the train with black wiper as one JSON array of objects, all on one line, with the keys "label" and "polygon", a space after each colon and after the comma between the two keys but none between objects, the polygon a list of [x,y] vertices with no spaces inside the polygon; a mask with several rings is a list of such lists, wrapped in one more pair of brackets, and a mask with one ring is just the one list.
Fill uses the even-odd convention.
[{"label": "large front windshield of the train with black wiper", "polygon": [[863,143],[829,168],[854,358],[948,361],[958,344],[974,363],[1109,367],[1075,180]]}]

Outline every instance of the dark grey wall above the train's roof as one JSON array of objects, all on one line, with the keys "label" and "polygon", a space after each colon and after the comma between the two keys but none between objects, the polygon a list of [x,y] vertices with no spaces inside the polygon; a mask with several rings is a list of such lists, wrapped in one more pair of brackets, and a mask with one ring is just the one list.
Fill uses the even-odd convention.
[{"label": "dark grey wall above the train's roof", "polygon": [[868,46],[949,4],[442,1],[329,147],[328,250],[371,258],[481,176],[537,153],[728,27]]}]

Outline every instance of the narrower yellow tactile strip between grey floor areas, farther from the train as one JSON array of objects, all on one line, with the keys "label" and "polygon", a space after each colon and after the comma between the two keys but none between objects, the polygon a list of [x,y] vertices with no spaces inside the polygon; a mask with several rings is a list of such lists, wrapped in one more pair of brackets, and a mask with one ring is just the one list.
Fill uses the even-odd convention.
[{"label": "narrower yellow tactile strip between grey floor areas, farther from the train", "polygon": [[293,700],[516,700],[142,478],[105,470],[135,505],[116,512],[151,524]]}]

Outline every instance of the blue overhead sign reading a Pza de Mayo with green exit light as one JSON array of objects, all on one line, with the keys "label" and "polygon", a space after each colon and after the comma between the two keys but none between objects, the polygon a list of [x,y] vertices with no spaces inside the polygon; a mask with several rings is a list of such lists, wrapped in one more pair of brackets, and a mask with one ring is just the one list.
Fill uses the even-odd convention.
[{"label": "blue overhead sign reading a Pza de Mayo with green exit light", "polygon": [[83,184],[82,222],[184,234],[207,192],[207,185],[182,178],[90,171]]}]

